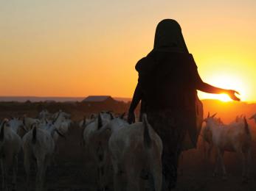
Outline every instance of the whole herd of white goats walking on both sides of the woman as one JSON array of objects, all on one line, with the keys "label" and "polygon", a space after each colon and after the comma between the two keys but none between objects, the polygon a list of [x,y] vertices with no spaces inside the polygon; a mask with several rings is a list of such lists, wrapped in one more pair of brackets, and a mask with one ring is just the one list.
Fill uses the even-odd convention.
[{"label": "whole herd of white goats walking on both sides of the woman", "polygon": [[[27,116],[4,119],[0,126],[0,160],[2,190],[16,190],[18,153],[23,149],[24,169],[27,174],[27,190],[30,185],[30,167],[36,167],[35,188],[44,190],[46,169],[55,161],[56,143],[65,137],[71,126],[70,114],[59,111],[50,114],[46,109],[38,118]],[[255,119],[256,115],[252,115]],[[203,120],[202,120],[203,121]],[[226,179],[224,151],[241,154],[243,180],[249,179],[252,133],[245,117],[238,116],[232,123],[224,124],[215,115],[204,119],[201,136],[217,151],[214,175],[221,165],[222,178]],[[153,190],[162,189],[162,140],[148,123],[147,115],[142,122],[128,124],[124,115],[99,112],[77,122],[83,129],[82,145],[91,155],[97,167],[97,190],[107,190],[114,182],[114,190],[140,190],[142,179],[148,180]],[[19,131],[25,131],[21,136]],[[13,176],[10,177],[10,171]]]}]

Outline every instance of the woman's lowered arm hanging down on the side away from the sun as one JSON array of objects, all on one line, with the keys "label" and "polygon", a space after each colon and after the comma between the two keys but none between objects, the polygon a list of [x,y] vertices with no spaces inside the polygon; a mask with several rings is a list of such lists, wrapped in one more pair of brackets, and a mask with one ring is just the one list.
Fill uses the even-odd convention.
[{"label": "woman's lowered arm hanging down on the side away from the sun", "polygon": [[134,123],[135,122],[135,115],[134,110],[136,109],[137,105],[139,104],[139,101],[142,99],[142,90],[140,88],[139,83],[136,85],[136,88],[134,90],[134,96],[131,101],[131,105],[128,112],[128,123]]}]

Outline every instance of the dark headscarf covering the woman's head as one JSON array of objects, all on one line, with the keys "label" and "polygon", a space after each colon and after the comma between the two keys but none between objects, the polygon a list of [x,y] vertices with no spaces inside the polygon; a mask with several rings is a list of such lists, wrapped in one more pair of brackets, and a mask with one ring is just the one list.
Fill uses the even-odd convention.
[{"label": "dark headscarf covering the woman's head", "polygon": [[188,53],[181,26],[173,19],[164,19],[156,26],[153,51],[177,51]]}]

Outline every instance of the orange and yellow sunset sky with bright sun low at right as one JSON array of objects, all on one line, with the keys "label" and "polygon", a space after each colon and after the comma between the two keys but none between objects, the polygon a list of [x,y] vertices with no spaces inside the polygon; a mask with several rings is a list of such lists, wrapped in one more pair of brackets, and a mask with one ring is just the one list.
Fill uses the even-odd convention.
[{"label": "orange and yellow sunset sky with bright sun low at right", "polygon": [[253,0],[1,0],[0,95],[131,97],[136,62],[173,18],[201,79],[256,102],[255,10]]}]

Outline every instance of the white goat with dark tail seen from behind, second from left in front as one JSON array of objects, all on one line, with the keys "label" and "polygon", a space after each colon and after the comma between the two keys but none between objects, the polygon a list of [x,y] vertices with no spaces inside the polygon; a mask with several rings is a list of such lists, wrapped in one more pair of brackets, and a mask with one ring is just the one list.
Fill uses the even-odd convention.
[{"label": "white goat with dark tail seen from behind, second from left in front", "polygon": [[55,150],[55,143],[51,134],[38,128],[38,124],[32,125],[23,137],[24,167],[27,173],[27,190],[30,190],[30,164],[35,162],[37,166],[35,190],[44,190],[46,169],[50,165]]}]

